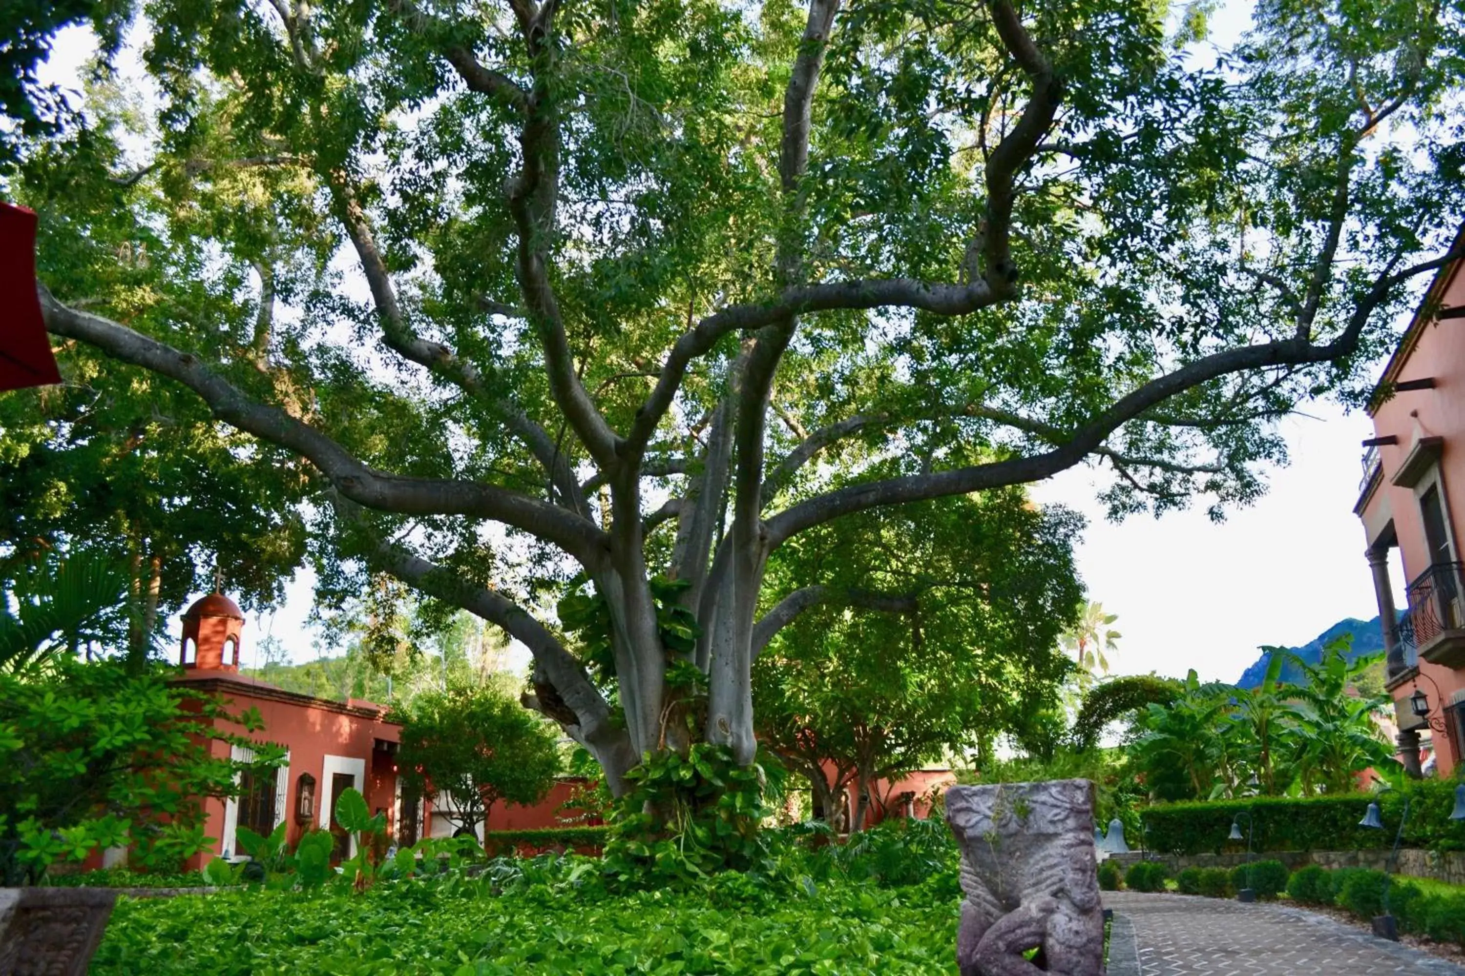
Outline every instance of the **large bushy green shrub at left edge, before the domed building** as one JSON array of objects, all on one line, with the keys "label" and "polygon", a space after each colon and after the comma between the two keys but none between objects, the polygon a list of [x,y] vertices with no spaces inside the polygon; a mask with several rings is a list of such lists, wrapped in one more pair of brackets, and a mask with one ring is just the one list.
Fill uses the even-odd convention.
[{"label": "large bushy green shrub at left edge, before the domed building", "polygon": [[0,670],[0,885],[34,884],[101,847],[176,871],[207,843],[204,799],[236,793],[245,768],[215,757],[214,742],[248,745],[267,765],[283,759],[278,746],[212,727],[258,732],[255,708],[226,711],[167,677],[64,654],[45,670]]}]

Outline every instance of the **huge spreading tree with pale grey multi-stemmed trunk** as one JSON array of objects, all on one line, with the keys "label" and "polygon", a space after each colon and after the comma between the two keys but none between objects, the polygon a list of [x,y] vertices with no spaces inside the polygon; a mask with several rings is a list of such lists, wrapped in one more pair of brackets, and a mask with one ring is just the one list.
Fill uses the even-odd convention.
[{"label": "huge spreading tree with pale grey multi-stemmed trunk", "polygon": [[[318,556],[523,641],[617,790],[689,737],[753,759],[781,546],[1086,461],[1116,512],[1256,498],[1275,420],[1360,397],[1458,256],[1434,0],[1266,0],[1213,64],[1112,0],[146,12],[141,158],[89,157],[111,209],[70,143],[16,181],[47,328],[303,459]],[[79,287],[117,211],[148,288]],[[526,582],[573,574],[614,685]]]}]

